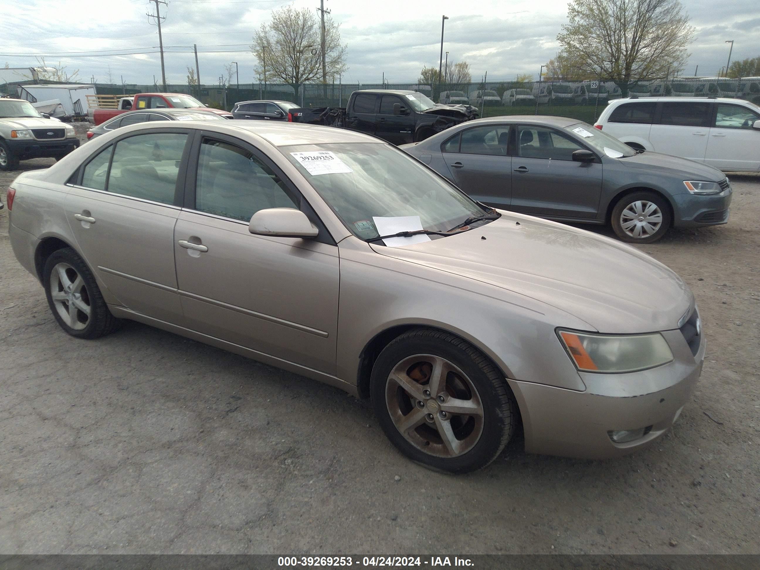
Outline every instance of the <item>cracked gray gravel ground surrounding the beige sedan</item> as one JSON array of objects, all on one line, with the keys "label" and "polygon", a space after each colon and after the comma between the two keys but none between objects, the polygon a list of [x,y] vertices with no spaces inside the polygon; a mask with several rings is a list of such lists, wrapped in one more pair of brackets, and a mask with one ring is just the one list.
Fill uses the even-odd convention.
[{"label": "cracked gray gravel ground surrounding the beige sedan", "polygon": [[708,338],[673,431],[613,461],[513,441],[460,477],[335,388],[136,323],[69,337],[0,212],[0,553],[760,553],[760,176],[730,178],[726,226],[641,246]]}]

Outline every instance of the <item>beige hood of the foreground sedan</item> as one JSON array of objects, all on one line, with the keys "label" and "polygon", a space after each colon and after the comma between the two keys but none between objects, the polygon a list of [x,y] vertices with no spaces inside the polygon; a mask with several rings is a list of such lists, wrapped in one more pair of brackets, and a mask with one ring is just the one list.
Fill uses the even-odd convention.
[{"label": "beige hood of the foreground sedan", "polygon": [[519,304],[510,291],[536,299],[603,333],[678,328],[692,304],[692,292],[675,272],[629,245],[535,217],[501,214],[456,236],[371,247],[499,287],[500,298],[509,302]]}]

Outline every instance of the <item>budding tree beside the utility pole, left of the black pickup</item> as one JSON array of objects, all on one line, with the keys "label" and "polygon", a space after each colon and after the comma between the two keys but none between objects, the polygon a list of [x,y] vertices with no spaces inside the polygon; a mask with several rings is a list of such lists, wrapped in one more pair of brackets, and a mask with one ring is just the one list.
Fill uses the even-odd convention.
[{"label": "budding tree beside the utility pole, left of the black pickup", "polygon": [[[253,36],[251,51],[258,60],[256,71],[268,79],[293,87],[298,97],[302,84],[321,83],[320,24],[309,8],[292,5],[272,11],[269,24]],[[344,73],[348,46],[340,43],[340,24],[325,17],[325,62],[328,77]],[[316,81],[318,80],[318,81]]]}]

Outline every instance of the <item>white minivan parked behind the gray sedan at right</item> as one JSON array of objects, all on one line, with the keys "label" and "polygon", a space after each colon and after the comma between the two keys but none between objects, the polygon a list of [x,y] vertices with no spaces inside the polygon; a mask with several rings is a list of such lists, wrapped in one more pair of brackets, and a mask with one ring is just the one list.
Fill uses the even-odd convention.
[{"label": "white minivan parked behind the gray sedan at right", "polygon": [[616,99],[596,124],[637,150],[725,171],[760,172],[760,106],[738,99]]}]

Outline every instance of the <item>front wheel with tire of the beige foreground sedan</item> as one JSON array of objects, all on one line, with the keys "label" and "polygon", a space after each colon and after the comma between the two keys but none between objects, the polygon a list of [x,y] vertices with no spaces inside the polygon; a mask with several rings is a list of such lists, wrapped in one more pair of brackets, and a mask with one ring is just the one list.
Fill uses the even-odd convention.
[{"label": "front wheel with tire of the beige foreground sedan", "polygon": [[388,344],[372,368],[370,393],[388,439],[434,470],[485,467],[515,432],[517,407],[503,375],[443,331],[413,329]]}]

